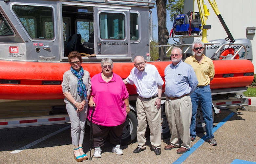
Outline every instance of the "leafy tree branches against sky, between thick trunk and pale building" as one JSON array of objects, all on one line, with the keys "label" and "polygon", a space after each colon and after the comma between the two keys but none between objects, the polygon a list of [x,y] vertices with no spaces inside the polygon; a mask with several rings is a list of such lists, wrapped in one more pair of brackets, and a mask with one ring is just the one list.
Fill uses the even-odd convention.
[{"label": "leafy tree branches against sky, between thick trunk and pale building", "polygon": [[184,0],[168,0],[167,9],[170,11],[171,21],[174,21],[174,14],[183,14]]}]

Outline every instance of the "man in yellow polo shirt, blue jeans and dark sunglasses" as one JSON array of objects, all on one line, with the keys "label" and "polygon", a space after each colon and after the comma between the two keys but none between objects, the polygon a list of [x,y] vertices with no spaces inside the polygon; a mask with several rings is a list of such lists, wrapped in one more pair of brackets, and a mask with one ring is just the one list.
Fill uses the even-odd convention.
[{"label": "man in yellow polo shirt, blue jeans and dark sunglasses", "polygon": [[190,64],[198,79],[198,86],[196,90],[190,95],[192,101],[192,119],[190,125],[190,142],[196,138],[196,113],[199,102],[203,111],[203,118],[205,121],[205,136],[206,142],[210,145],[216,146],[217,142],[212,133],[213,118],[212,118],[212,96],[210,89],[210,82],[214,78],[214,65],[210,58],[203,54],[204,44],[198,40],[193,42],[192,49],[194,55],[186,58],[185,63]]}]

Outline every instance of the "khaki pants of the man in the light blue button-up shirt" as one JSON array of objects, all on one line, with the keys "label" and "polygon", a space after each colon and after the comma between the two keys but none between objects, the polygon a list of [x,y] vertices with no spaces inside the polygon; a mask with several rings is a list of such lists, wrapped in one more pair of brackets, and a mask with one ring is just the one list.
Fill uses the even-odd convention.
[{"label": "khaki pants of the man in the light blue button-up shirt", "polygon": [[[190,96],[170,100],[166,97],[165,114],[171,132],[170,144],[175,147],[190,149],[190,122],[192,103]],[[179,139],[181,138],[181,145]]]}]

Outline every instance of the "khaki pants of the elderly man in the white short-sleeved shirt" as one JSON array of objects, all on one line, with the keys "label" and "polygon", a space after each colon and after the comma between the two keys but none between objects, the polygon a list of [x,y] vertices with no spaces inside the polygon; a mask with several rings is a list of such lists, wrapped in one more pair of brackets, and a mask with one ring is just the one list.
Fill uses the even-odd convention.
[{"label": "khaki pants of the elderly man in the white short-sleeved shirt", "polygon": [[136,103],[137,109],[137,140],[138,147],[145,149],[146,137],[145,132],[147,123],[150,130],[150,142],[153,148],[160,147],[161,145],[161,108],[157,109],[155,106],[156,99],[147,100],[138,97]]}]

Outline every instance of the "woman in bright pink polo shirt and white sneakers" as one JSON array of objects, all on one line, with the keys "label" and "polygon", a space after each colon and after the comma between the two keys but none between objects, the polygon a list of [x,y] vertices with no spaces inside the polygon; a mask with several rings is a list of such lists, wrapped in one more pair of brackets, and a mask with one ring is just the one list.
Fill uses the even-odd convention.
[{"label": "woman in bright pink polo shirt and white sneakers", "polygon": [[112,72],[113,61],[110,58],[102,59],[101,70],[91,79],[92,92],[87,116],[90,120],[94,105],[92,128],[95,158],[101,157],[101,147],[108,134],[114,145],[112,152],[123,155],[120,143],[126,115],[130,112],[129,94],[122,78]]}]

